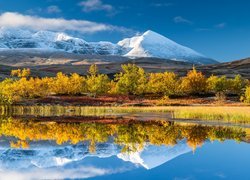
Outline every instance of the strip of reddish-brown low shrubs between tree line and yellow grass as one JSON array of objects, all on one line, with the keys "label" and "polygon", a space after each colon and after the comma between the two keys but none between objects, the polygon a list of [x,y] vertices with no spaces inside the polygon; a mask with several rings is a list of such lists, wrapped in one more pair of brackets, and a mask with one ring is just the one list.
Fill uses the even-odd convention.
[{"label": "strip of reddish-brown low shrubs between tree line and yellow grass", "polygon": [[[4,105],[4,104],[3,104]],[[48,96],[45,98],[29,99],[13,103],[12,105],[61,105],[61,106],[107,106],[107,107],[154,107],[154,106],[240,106],[250,104],[240,102],[237,97],[228,97],[225,101],[218,101],[214,96],[206,97],[177,97],[177,98],[141,98],[136,96]]]}]

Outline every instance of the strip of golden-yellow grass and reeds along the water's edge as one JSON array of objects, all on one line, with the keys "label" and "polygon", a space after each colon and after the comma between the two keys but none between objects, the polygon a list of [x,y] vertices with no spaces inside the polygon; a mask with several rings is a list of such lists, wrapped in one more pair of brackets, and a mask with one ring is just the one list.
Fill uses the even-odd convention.
[{"label": "strip of golden-yellow grass and reeds along the water's edge", "polygon": [[250,123],[250,106],[154,106],[154,107],[91,107],[91,106],[2,106],[2,115],[34,116],[105,116],[123,113],[167,113],[171,119],[199,119]]}]

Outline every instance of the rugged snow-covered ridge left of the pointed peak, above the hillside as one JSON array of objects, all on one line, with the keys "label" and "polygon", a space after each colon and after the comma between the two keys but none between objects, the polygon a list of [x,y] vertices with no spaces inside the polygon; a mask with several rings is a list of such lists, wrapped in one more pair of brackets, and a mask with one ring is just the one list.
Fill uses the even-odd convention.
[{"label": "rugged snow-covered ridge left of the pointed peak, above the hillside", "polygon": [[0,48],[62,50],[78,54],[117,55],[123,48],[110,42],[86,42],[65,33],[50,31],[31,32],[21,29],[0,28]]}]

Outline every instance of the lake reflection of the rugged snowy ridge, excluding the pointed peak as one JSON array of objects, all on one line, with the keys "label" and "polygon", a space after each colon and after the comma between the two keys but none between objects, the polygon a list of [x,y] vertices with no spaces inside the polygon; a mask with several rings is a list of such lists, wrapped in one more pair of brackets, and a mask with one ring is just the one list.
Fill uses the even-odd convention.
[{"label": "lake reflection of the rugged snowy ridge, excluding the pointed peak", "polygon": [[[1,142],[2,145],[2,142]],[[103,143],[96,147],[96,153],[90,153],[87,143],[77,145],[57,145],[54,142],[36,142],[29,149],[10,149],[1,146],[1,169],[50,168],[63,166],[87,157],[107,158],[119,152],[119,147]]]}]

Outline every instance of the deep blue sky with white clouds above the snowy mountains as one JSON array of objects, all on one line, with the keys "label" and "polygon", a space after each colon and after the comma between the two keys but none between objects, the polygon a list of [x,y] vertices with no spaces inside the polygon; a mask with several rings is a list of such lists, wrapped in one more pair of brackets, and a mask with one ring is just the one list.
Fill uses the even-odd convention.
[{"label": "deep blue sky with white clouds above the snowy mountains", "polygon": [[250,57],[248,0],[7,0],[0,26],[66,31],[117,42],[156,31],[208,57]]}]

